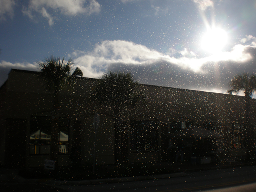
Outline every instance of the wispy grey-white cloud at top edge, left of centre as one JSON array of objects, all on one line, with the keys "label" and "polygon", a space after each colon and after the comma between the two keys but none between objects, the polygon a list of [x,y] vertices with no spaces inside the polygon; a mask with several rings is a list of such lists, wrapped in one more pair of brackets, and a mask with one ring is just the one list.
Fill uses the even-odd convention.
[{"label": "wispy grey-white cloud at top edge, left of centre", "polygon": [[33,11],[39,12],[48,19],[49,25],[52,25],[53,17],[47,11],[49,8],[70,16],[78,13],[91,15],[100,12],[100,4],[96,0],[89,0],[88,5],[85,6],[86,2],[87,0],[30,0],[28,8],[23,7],[23,14],[33,19]]}]

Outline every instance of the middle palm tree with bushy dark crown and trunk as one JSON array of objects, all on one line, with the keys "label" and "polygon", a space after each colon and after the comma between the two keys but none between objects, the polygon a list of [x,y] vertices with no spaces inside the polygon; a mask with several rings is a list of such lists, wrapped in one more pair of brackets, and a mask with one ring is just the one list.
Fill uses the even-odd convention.
[{"label": "middle palm tree with bushy dark crown and trunk", "polygon": [[[120,162],[121,138],[124,132],[124,113],[138,102],[145,102],[146,96],[139,91],[139,84],[133,75],[125,72],[104,73],[91,93],[92,101],[107,104],[113,111],[115,128],[115,163]],[[125,138],[124,138],[125,139]]]}]

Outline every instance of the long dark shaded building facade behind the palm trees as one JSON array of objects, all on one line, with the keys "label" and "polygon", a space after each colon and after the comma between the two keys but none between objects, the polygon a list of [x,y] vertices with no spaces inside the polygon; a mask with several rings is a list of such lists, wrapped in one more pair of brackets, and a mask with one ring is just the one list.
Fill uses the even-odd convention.
[{"label": "long dark shaded building facade behind the palm trees", "polygon": [[[38,72],[13,69],[0,88],[0,164],[3,166],[38,167],[50,159],[53,93],[45,89],[38,76]],[[95,137],[96,163],[115,163],[117,137],[113,111],[90,101],[96,83],[96,79],[77,77],[72,90],[60,92],[58,161],[62,166],[92,164]],[[221,149],[226,155],[246,155],[243,96],[142,84],[140,89],[148,97],[146,104],[122,114],[125,127],[120,133],[122,161],[168,161],[170,141],[179,139],[173,138],[175,132],[193,126],[221,135],[224,143]],[[255,124],[254,99],[251,111],[251,121]],[[95,113],[100,115],[96,135]]]}]

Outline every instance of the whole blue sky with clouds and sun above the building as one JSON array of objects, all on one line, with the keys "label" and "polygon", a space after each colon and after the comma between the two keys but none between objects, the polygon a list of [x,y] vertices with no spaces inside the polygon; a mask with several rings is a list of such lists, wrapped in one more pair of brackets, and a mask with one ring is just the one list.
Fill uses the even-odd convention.
[{"label": "whole blue sky with clouds and sun above the building", "polygon": [[53,55],[84,77],[226,93],[256,73],[256,0],[0,0],[0,85]]}]

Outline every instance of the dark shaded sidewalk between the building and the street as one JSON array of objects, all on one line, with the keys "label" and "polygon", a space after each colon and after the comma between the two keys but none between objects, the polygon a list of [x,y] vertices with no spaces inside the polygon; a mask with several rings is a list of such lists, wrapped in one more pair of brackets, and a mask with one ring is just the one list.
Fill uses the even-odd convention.
[{"label": "dark shaded sidewalk between the building and the street", "polygon": [[[155,163],[154,168],[156,170],[166,170],[169,173],[166,174],[153,174],[153,175],[136,175],[130,177],[113,177],[113,178],[103,178],[103,179],[83,179],[81,176],[83,171],[75,171],[72,172],[73,175],[68,175],[69,178],[79,178],[79,179],[67,179],[65,180],[64,174],[68,174],[63,172],[62,170],[62,178],[53,179],[53,177],[49,176],[45,178],[34,177],[34,178],[24,178],[21,177],[21,172],[27,169],[7,169],[0,168],[0,183],[49,183],[54,185],[90,185],[90,184],[103,184],[103,183],[122,183],[129,181],[142,181],[142,180],[150,180],[150,179],[164,179],[164,178],[173,178],[173,177],[183,177],[186,176],[188,172],[196,172],[196,171],[204,171],[210,169],[225,169],[230,167],[237,166],[250,166],[255,164],[254,162],[223,162],[219,164],[197,164],[192,165],[189,163]],[[149,165],[149,164],[147,164]],[[108,167],[111,169],[111,167]],[[106,168],[105,168],[106,169]],[[113,169],[113,168],[112,168]],[[39,169],[30,168],[30,170],[37,171]],[[41,171],[43,169],[40,169]],[[68,169],[67,169],[68,170]],[[100,171],[100,170],[98,170]],[[164,171],[162,171],[164,173]],[[41,176],[41,175],[40,175]],[[32,176],[33,177],[33,176]]]}]

